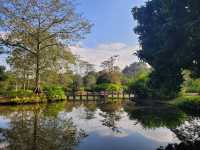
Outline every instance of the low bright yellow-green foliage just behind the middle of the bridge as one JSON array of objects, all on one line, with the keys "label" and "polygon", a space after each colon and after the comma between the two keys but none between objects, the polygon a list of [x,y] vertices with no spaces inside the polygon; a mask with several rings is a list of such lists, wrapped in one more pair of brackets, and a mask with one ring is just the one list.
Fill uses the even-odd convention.
[{"label": "low bright yellow-green foliage just behind the middle of the bridge", "polygon": [[120,84],[113,84],[113,83],[102,83],[98,84],[95,87],[96,91],[120,91],[122,86]]}]

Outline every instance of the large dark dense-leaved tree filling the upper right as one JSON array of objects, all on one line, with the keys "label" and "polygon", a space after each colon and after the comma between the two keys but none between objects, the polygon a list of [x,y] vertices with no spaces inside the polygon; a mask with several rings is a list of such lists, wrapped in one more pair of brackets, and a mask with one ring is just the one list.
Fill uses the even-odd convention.
[{"label": "large dark dense-leaved tree filling the upper right", "polygon": [[180,91],[183,69],[200,75],[199,8],[199,0],[150,0],[132,10],[141,46],[137,56],[153,68],[151,88],[165,95]]}]

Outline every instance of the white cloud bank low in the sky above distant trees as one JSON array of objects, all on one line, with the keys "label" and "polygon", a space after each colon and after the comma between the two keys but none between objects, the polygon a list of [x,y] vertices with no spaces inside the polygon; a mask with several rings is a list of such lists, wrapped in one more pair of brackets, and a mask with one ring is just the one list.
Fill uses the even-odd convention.
[{"label": "white cloud bank low in the sky above distant trees", "polygon": [[119,60],[116,64],[123,69],[126,65],[138,61],[137,57],[133,55],[137,49],[137,45],[132,46],[125,43],[99,44],[94,48],[71,46],[72,53],[80,55],[83,60],[95,64],[97,70],[100,69],[101,62],[113,55],[119,55]]}]

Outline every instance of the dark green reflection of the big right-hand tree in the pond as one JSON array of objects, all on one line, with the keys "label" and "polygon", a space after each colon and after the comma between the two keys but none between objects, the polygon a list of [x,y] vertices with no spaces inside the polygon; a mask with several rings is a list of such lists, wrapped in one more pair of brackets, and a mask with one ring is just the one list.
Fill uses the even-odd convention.
[{"label": "dark green reflection of the big right-hand tree in the pond", "polygon": [[187,120],[184,112],[166,104],[129,104],[125,111],[145,128],[176,128]]}]

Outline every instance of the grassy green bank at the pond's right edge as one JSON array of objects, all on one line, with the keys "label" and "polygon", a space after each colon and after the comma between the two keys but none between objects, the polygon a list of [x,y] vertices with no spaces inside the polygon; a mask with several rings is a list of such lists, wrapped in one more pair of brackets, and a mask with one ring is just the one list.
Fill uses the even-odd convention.
[{"label": "grassy green bank at the pond's right edge", "polygon": [[200,113],[200,95],[182,95],[169,103],[186,111]]}]

